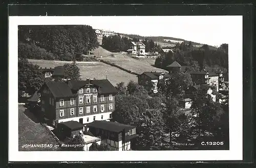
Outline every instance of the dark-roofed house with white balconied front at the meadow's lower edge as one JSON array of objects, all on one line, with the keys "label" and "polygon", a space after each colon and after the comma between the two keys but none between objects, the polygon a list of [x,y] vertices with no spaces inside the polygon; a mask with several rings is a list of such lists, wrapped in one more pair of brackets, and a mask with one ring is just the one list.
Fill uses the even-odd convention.
[{"label": "dark-roofed house with white balconied front at the meadow's lower edge", "polygon": [[138,84],[150,93],[157,93],[157,84],[161,79],[168,79],[170,75],[166,72],[143,72],[138,75]]}]

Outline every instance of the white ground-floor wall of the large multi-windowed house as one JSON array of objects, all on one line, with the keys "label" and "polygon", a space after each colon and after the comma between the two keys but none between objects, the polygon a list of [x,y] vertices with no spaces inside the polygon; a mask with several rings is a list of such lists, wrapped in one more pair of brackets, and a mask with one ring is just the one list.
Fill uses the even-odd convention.
[{"label": "white ground-floor wall of the large multi-windowed house", "polygon": [[[89,115],[89,116],[81,116],[81,117],[73,117],[73,118],[68,118],[68,119],[61,119],[58,122],[67,122],[67,121],[77,121],[79,122],[79,119],[83,119],[83,124],[87,124],[87,123],[91,123],[93,122],[93,117],[95,117],[95,120],[109,120],[110,118],[110,114],[112,114],[112,112],[109,113],[101,113],[101,114],[95,114],[95,115]],[[103,116],[103,119],[101,119],[101,116]],[[89,122],[87,122],[87,118],[89,118]]]}]

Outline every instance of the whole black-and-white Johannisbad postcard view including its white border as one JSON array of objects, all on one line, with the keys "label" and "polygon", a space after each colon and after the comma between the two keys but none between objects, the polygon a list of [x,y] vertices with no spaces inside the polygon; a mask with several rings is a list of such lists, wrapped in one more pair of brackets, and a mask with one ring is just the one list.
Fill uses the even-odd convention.
[{"label": "whole black-and-white Johannisbad postcard view including its white border", "polygon": [[9,92],[18,101],[9,111],[9,121],[18,121],[9,141],[17,139],[16,153],[47,151],[49,160],[55,151],[58,161],[69,161],[61,159],[84,152],[87,158],[77,157],[83,161],[102,151],[116,151],[111,160],[134,160],[137,153],[147,159],[141,152],[156,152],[148,159],[166,160],[173,152],[176,160],[193,160],[204,152],[210,160],[242,150],[236,128],[242,17],[17,16],[9,22],[9,68],[16,66]]}]

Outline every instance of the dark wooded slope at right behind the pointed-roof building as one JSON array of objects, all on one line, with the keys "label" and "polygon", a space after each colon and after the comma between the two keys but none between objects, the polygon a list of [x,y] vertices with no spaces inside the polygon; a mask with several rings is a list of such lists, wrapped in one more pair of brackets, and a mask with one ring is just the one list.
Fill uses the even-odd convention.
[{"label": "dark wooded slope at right behind the pointed-roof building", "polygon": [[187,70],[191,71],[228,71],[228,44],[222,44],[215,50],[209,49],[208,45],[195,48],[190,43],[181,43],[173,49],[176,49],[176,52],[162,52],[156,59],[155,66],[165,69],[167,65],[177,61],[182,66],[189,66]]}]

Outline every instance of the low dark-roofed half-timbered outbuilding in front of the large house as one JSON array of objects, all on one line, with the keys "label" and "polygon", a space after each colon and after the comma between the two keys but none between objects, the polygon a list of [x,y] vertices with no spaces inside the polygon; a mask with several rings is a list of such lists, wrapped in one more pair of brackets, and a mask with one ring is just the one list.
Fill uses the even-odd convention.
[{"label": "low dark-roofed half-timbered outbuilding in front of the large house", "polygon": [[131,140],[136,137],[136,127],[117,122],[94,121],[87,124],[89,131],[100,137],[101,142],[109,144],[112,150],[131,150]]}]

